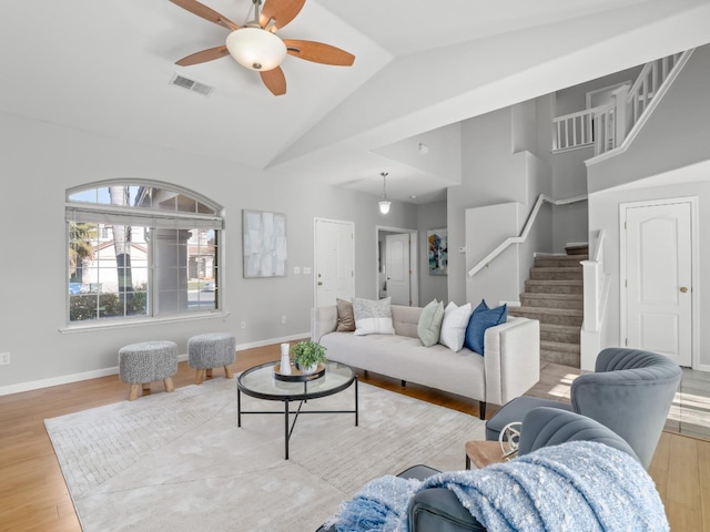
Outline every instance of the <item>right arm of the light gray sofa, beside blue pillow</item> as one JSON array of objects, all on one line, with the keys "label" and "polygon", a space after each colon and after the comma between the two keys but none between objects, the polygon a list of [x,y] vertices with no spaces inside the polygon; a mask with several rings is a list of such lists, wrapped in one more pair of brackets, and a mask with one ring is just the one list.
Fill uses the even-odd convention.
[{"label": "right arm of the light gray sofa, beside blue pillow", "polygon": [[510,318],[484,337],[486,402],[505,405],[540,380],[540,323]]}]

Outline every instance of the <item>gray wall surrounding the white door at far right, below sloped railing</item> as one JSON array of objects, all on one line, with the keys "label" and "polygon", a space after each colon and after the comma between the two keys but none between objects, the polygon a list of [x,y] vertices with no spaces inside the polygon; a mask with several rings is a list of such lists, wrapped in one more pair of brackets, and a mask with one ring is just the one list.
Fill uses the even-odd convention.
[{"label": "gray wall surrounding the white door at far right, below sloped railing", "polygon": [[[589,231],[605,229],[611,274],[602,347],[619,345],[619,204],[679,196],[699,197],[700,297],[698,324],[710,315],[701,287],[710,284],[710,47],[696,50],[680,76],[625,154],[589,166]],[[631,183],[627,186],[620,184]],[[710,370],[710,335],[700,327],[697,360]]]}]

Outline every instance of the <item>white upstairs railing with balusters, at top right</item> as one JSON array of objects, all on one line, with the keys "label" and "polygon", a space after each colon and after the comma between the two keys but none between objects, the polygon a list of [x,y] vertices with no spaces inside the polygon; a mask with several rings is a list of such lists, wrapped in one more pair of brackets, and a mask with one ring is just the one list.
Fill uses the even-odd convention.
[{"label": "white upstairs railing with balusters, at top right", "polygon": [[633,84],[613,92],[606,105],[552,119],[552,150],[595,146],[595,156],[631,143],[676,80],[693,50],[646,63]]}]

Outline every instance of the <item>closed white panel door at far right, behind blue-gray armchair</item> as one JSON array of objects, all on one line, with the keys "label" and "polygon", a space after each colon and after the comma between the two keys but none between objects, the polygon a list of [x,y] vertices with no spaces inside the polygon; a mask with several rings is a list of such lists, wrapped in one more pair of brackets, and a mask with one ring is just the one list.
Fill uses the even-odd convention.
[{"label": "closed white panel door at far right, behind blue-gray armchair", "polygon": [[691,204],[626,208],[627,345],[691,366]]}]

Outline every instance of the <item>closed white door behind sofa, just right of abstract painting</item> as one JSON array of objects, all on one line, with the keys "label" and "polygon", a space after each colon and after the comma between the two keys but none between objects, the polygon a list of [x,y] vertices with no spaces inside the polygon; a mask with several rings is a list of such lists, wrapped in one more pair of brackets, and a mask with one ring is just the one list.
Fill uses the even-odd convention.
[{"label": "closed white door behind sofa, just right of abstract painting", "polygon": [[315,218],[314,233],[315,306],[349,300],[355,295],[355,224]]}]

